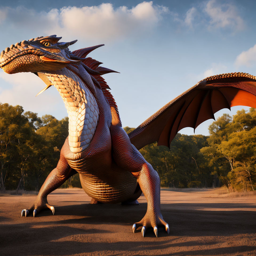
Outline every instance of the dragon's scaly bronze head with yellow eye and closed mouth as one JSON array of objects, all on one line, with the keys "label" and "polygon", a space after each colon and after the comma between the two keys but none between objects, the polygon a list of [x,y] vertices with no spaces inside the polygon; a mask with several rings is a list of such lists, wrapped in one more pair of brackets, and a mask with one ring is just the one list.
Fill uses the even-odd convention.
[{"label": "dragon's scaly bronze head with yellow eye and closed mouth", "polygon": [[7,47],[0,55],[0,67],[8,74],[19,72],[41,72],[59,70],[68,64],[81,61],[70,58],[68,47],[71,42],[58,42],[61,37],[50,35],[47,37],[31,38],[28,41],[16,43]]}]

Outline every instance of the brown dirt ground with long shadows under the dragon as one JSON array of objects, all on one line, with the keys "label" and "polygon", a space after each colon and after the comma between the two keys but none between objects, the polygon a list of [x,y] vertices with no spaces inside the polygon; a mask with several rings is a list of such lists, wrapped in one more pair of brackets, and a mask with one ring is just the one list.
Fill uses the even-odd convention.
[{"label": "brown dirt ground with long shadows under the dragon", "polygon": [[[214,195],[216,197],[216,195]],[[146,212],[140,205],[90,205],[79,190],[48,196],[45,210],[21,217],[35,196],[0,197],[0,255],[256,255],[256,198],[212,198],[207,190],[161,191],[170,235],[132,231]]]}]

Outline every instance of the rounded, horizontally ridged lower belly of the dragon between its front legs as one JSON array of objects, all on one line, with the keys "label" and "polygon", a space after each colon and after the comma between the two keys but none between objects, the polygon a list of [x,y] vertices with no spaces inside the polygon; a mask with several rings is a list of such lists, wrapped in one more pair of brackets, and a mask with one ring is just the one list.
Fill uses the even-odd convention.
[{"label": "rounded, horizontally ridged lower belly of the dragon between its front legs", "polygon": [[102,203],[126,201],[137,186],[137,179],[126,170],[105,169],[96,175],[79,172],[79,176],[85,193]]}]

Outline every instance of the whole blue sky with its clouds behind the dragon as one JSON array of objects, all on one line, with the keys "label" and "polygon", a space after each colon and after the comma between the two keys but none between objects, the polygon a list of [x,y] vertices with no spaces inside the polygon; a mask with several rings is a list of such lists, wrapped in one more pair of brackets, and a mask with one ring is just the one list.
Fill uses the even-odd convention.
[{"label": "whole blue sky with its clouds behind the dragon", "polygon": [[[90,57],[120,74],[106,74],[123,126],[137,127],[159,108],[214,74],[256,75],[253,1],[0,1],[0,47],[57,34],[78,39],[70,50],[105,43]],[[2,50],[1,49],[1,50]],[[67,116],[54,87],[31,73],[0,70],[0,102]],[[235,114],[243,107],[233,107]],[[248,109],[247,107],[244,107]],[[228,110],[221,110],[215,118]],[[206,121],[196,134],[208,134]],[[181,131],[193,134],[192,128]]]}]

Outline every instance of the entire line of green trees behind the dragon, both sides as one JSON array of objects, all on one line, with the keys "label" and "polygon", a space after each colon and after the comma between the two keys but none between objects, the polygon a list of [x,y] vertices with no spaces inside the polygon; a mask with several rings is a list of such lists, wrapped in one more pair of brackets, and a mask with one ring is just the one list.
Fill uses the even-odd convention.
[{"label": "entire line of green trees behind the dragon, both sides", "polygon": [[[124,127],[127,133],[134,128]],[[209,136],[177,134],[170,149],[152,143],[140,150],[158,172],[161,186],[256,188],[256,111],[223,114]],[[0,191],[38,191],[56,167],[68,136],[68,118],[38,117],[22,106],[0,103]],[[81,187],[76,174],[62,187]]]}]

